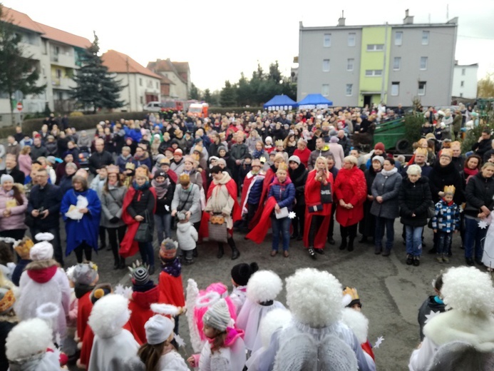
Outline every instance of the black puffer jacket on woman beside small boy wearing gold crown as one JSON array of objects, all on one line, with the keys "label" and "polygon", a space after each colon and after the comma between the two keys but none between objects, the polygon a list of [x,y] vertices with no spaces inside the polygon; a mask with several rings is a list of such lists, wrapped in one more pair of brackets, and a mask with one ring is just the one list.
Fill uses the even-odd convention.
[{"label": "black puffer jacket on woman beside small boy wearing gold crown", "polygon": [[[431,189],[426,177],[418,178],[415,183],[411,183],[408,178],[403,179],[398,193],[400,222],[412,227],[426,225],[427,209],[431,205],[431,200]],[[415,216],[412,216],[412,214],[415,214]]]}]

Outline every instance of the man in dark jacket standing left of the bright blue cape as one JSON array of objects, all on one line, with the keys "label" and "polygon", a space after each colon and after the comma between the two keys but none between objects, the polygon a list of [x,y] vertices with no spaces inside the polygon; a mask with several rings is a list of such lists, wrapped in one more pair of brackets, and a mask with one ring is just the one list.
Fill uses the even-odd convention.
[{"label": "man in dark jacket standing left of the bright blue cape", "polygon": [[[51,240],[53,245],[53,257],[63,266],[63,253],[60,244],[60,204],[63,195],[57,185],[48,183],[48,171],[40,169],[36,175],[38,184],[31,189],[29,196],[28,213],[32,217],[31,236],[33,239],[36,234],[48,232],[55,238]],[[31,218],[26,218],[26,222]],[[39,241],[35,241],[39,242]]]}]

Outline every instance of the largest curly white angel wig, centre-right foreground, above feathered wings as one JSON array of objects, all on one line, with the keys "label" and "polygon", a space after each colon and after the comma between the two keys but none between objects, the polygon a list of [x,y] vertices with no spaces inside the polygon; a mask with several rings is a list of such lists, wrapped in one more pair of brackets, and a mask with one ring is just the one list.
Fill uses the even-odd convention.
[{"label": "largest curly white angel wig, centre-right foreground, above feathered wings", "polygon": [[299,322],[326,327],[341,319],[342,291],[334,275],[314,268],[298,269],[287,278],[287,305]]}]

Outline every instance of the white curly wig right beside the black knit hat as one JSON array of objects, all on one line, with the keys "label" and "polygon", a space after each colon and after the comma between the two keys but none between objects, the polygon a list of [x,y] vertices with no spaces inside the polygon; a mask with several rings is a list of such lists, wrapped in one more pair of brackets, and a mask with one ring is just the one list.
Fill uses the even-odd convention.
[{"label": "white curly wig right beside the black knit hat", "polygon": [[247,298],[253,303],[274,300],[283,288],[283,281],[272,270],[258,270],[247,283]]}]

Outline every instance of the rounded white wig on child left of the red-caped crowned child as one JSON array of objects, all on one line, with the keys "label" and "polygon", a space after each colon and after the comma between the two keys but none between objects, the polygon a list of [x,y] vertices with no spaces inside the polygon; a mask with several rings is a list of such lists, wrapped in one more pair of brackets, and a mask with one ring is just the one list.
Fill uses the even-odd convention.
[{"label": "rounded white wig on child left of the red-caped crowned child", "polygon": [[128,300],[122,295],[108,294],[95,303],[88,323],[95,335],[105,339],[118,335],[129,318]]}]

